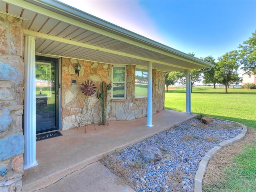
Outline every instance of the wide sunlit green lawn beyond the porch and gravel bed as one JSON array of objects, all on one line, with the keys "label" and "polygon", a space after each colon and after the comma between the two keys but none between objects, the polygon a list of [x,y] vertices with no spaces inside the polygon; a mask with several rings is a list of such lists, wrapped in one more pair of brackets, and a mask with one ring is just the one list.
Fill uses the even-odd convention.
[{"label": "wide sunlit green lawn beyond the porch and gravel bed", "polygon": [[[192,113],[240,122],[256,129],[256,90],[193,88]],[[165,92],[165,108],[186,112],[186,89]]]}]

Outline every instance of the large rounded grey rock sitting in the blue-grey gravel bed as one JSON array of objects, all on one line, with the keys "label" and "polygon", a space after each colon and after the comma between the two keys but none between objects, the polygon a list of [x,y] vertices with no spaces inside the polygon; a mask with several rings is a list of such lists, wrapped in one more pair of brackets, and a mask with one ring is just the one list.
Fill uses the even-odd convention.
[{"label": "large rounded grey rock sitting in the blue-grey gravel bed", "polygon": [[163,158],[162,152],[153,145],[148,145],[140,150],[140,155],[145,161],[157,161]]}]

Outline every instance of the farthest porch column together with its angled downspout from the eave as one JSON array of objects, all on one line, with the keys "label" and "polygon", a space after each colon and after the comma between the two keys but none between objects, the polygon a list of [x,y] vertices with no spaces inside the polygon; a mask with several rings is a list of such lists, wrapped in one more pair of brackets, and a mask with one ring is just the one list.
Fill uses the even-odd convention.
[{"label": "farthest porch column together with its angled downspout from the eave", "polygon": [[191,112],[191,77],[195,76],[200,73],[208,72],[212,69],[212,66],[210,66],[209,69],[206,69],[204,71],[200,71],[194,74],[189,74],[189,70],[186,70],[186,114],[190,114]]}]

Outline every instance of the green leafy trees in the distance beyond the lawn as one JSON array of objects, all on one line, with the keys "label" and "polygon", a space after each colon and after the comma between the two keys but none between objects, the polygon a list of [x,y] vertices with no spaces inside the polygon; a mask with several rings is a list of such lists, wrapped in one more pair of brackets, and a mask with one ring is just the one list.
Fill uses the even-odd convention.
[{"label": "green leafy trees in the distance beyond the lawn", "polygon": [[[201,60],[207,61],[216,65],[212,70],[205,72],[204,75],[199,73],[191,77],[191,92],[195,82],[202,81],[204,84],[223,84],[225,86],[225,93],[228,93],[228,86],[240,80],[238,70],[241,68],[244,71],[250,71],[256,74],[256,30],[252,33],[252,37],[244,41],[238,46],[239,50],[232,50],[220,56],[217,60],[212,56],[205,58],[200,57]],[[195,56],[194,53],[188,53],[190,56]],[[190,74],[195,74],[206,69],[193,69]],[[168,86],[176,83],[186,84],[186,71],[172,71],[165,74],[166,91]]]}]

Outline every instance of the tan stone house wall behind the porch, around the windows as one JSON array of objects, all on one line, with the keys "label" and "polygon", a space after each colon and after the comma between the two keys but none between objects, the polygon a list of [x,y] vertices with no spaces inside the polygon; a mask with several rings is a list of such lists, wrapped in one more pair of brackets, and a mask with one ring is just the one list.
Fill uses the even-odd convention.
[{"label": "tan stone house wall behind the porch, around the windows", "polygon": [[[74,66],[79,63],[82,67],[78,74]],[[62,58],[62,130],[78,126],[85,96],[82,94],[81,84],[87,80],[93,81],[97,92],[90,96],[90,105],[94,122],[100,122],[100,100],[96,94],[100,90],[100,82],[111,82],[112,66],[97,62],[88,62],[69,58]],[[147,98],[135,98],[135,65],[127,65],[126,99],[111,99],[111,91],[107,94],[107,121],[132,120],[145,117],[147,114]],[[76,80],[76,85],[72,85]],[[165,73],[153,70],[153,114],[164,109]],[[90,112],[90,110],[89,110]],[[92,120],[89,120],[92,122]],[[90,124],[90,122],[88,122]]]}]

